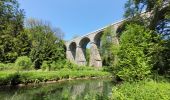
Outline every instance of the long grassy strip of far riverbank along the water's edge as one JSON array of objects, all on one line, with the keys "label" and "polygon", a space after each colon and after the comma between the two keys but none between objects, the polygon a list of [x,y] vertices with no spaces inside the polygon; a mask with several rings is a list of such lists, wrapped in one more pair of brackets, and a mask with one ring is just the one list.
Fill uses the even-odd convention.
[{"label": "long grassy strip of far riverbank along the water's edge", "polygon": [[59,71],[0,71],[0,85],[38,84],[94,77],[110,77],[111,73],[98,70]]}]

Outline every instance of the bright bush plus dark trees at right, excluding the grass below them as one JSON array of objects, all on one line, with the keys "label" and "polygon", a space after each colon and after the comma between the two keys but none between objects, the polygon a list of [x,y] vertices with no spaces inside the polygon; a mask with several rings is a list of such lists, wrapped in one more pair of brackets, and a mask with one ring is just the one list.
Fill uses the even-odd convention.
[{"label": "bright bush plus dark trees at right, excluding the grass below them", "polygon": [[[165,3],[164,0],[128,0],[125,4],[128,19],[117,30],[118,62],[113,67],[117,79],[134,81],[147,79],[153,74],[170,75],[170,31],[166,17],[170,6],[161,7]],[[142,14],[143,10],[153,12],[146,16]]]}]

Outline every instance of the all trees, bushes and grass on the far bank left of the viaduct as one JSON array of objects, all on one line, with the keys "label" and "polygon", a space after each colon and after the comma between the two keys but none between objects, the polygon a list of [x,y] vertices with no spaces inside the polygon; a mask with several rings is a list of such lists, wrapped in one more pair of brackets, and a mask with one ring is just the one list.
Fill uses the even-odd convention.
[{"label": "all trees, bushes and grass on the far bank left of the viaduct", "polygon": [[[0,1],[0,85],[110,76],[66,60],[63,32],[30,18],[17,0]],[[88,58],[89,59],[89,58]]]}]

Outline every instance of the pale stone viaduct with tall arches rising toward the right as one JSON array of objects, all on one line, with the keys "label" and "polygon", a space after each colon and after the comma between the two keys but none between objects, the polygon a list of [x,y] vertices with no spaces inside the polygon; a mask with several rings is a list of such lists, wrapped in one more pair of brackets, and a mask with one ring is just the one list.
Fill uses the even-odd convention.
[{"label": "pale stone viaduct with tall arches rising toward the right", "polygon": [[[109,26],[111,26],[112,29],[115,32],[117,32],[117,29],[122,22],[123,21],[120,21]],[[85,36],[77,37],[71,41],[67,41],[66,42],[67,59],[78,65],[86,65],[87,64],[85,57],[86,46],[88,43],[90,43],[91,47],[89,66],[102,67],[102,60],[98,48],[100,47],[100,38],[102,36],[102,32],[109,26],[91,32]],[[117,40],[116,37],[115,39]]]}]

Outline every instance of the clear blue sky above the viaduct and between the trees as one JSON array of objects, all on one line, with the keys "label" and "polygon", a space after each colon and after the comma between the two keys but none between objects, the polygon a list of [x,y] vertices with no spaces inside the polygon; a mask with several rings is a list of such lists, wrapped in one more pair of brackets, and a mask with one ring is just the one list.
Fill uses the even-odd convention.
[{"label": "clear blue sky above the viaduct and between the trees", "polygon": [[127,0],[18,0],[26,18],[51,22],[65,40],[85,35],[123,18]]}]

